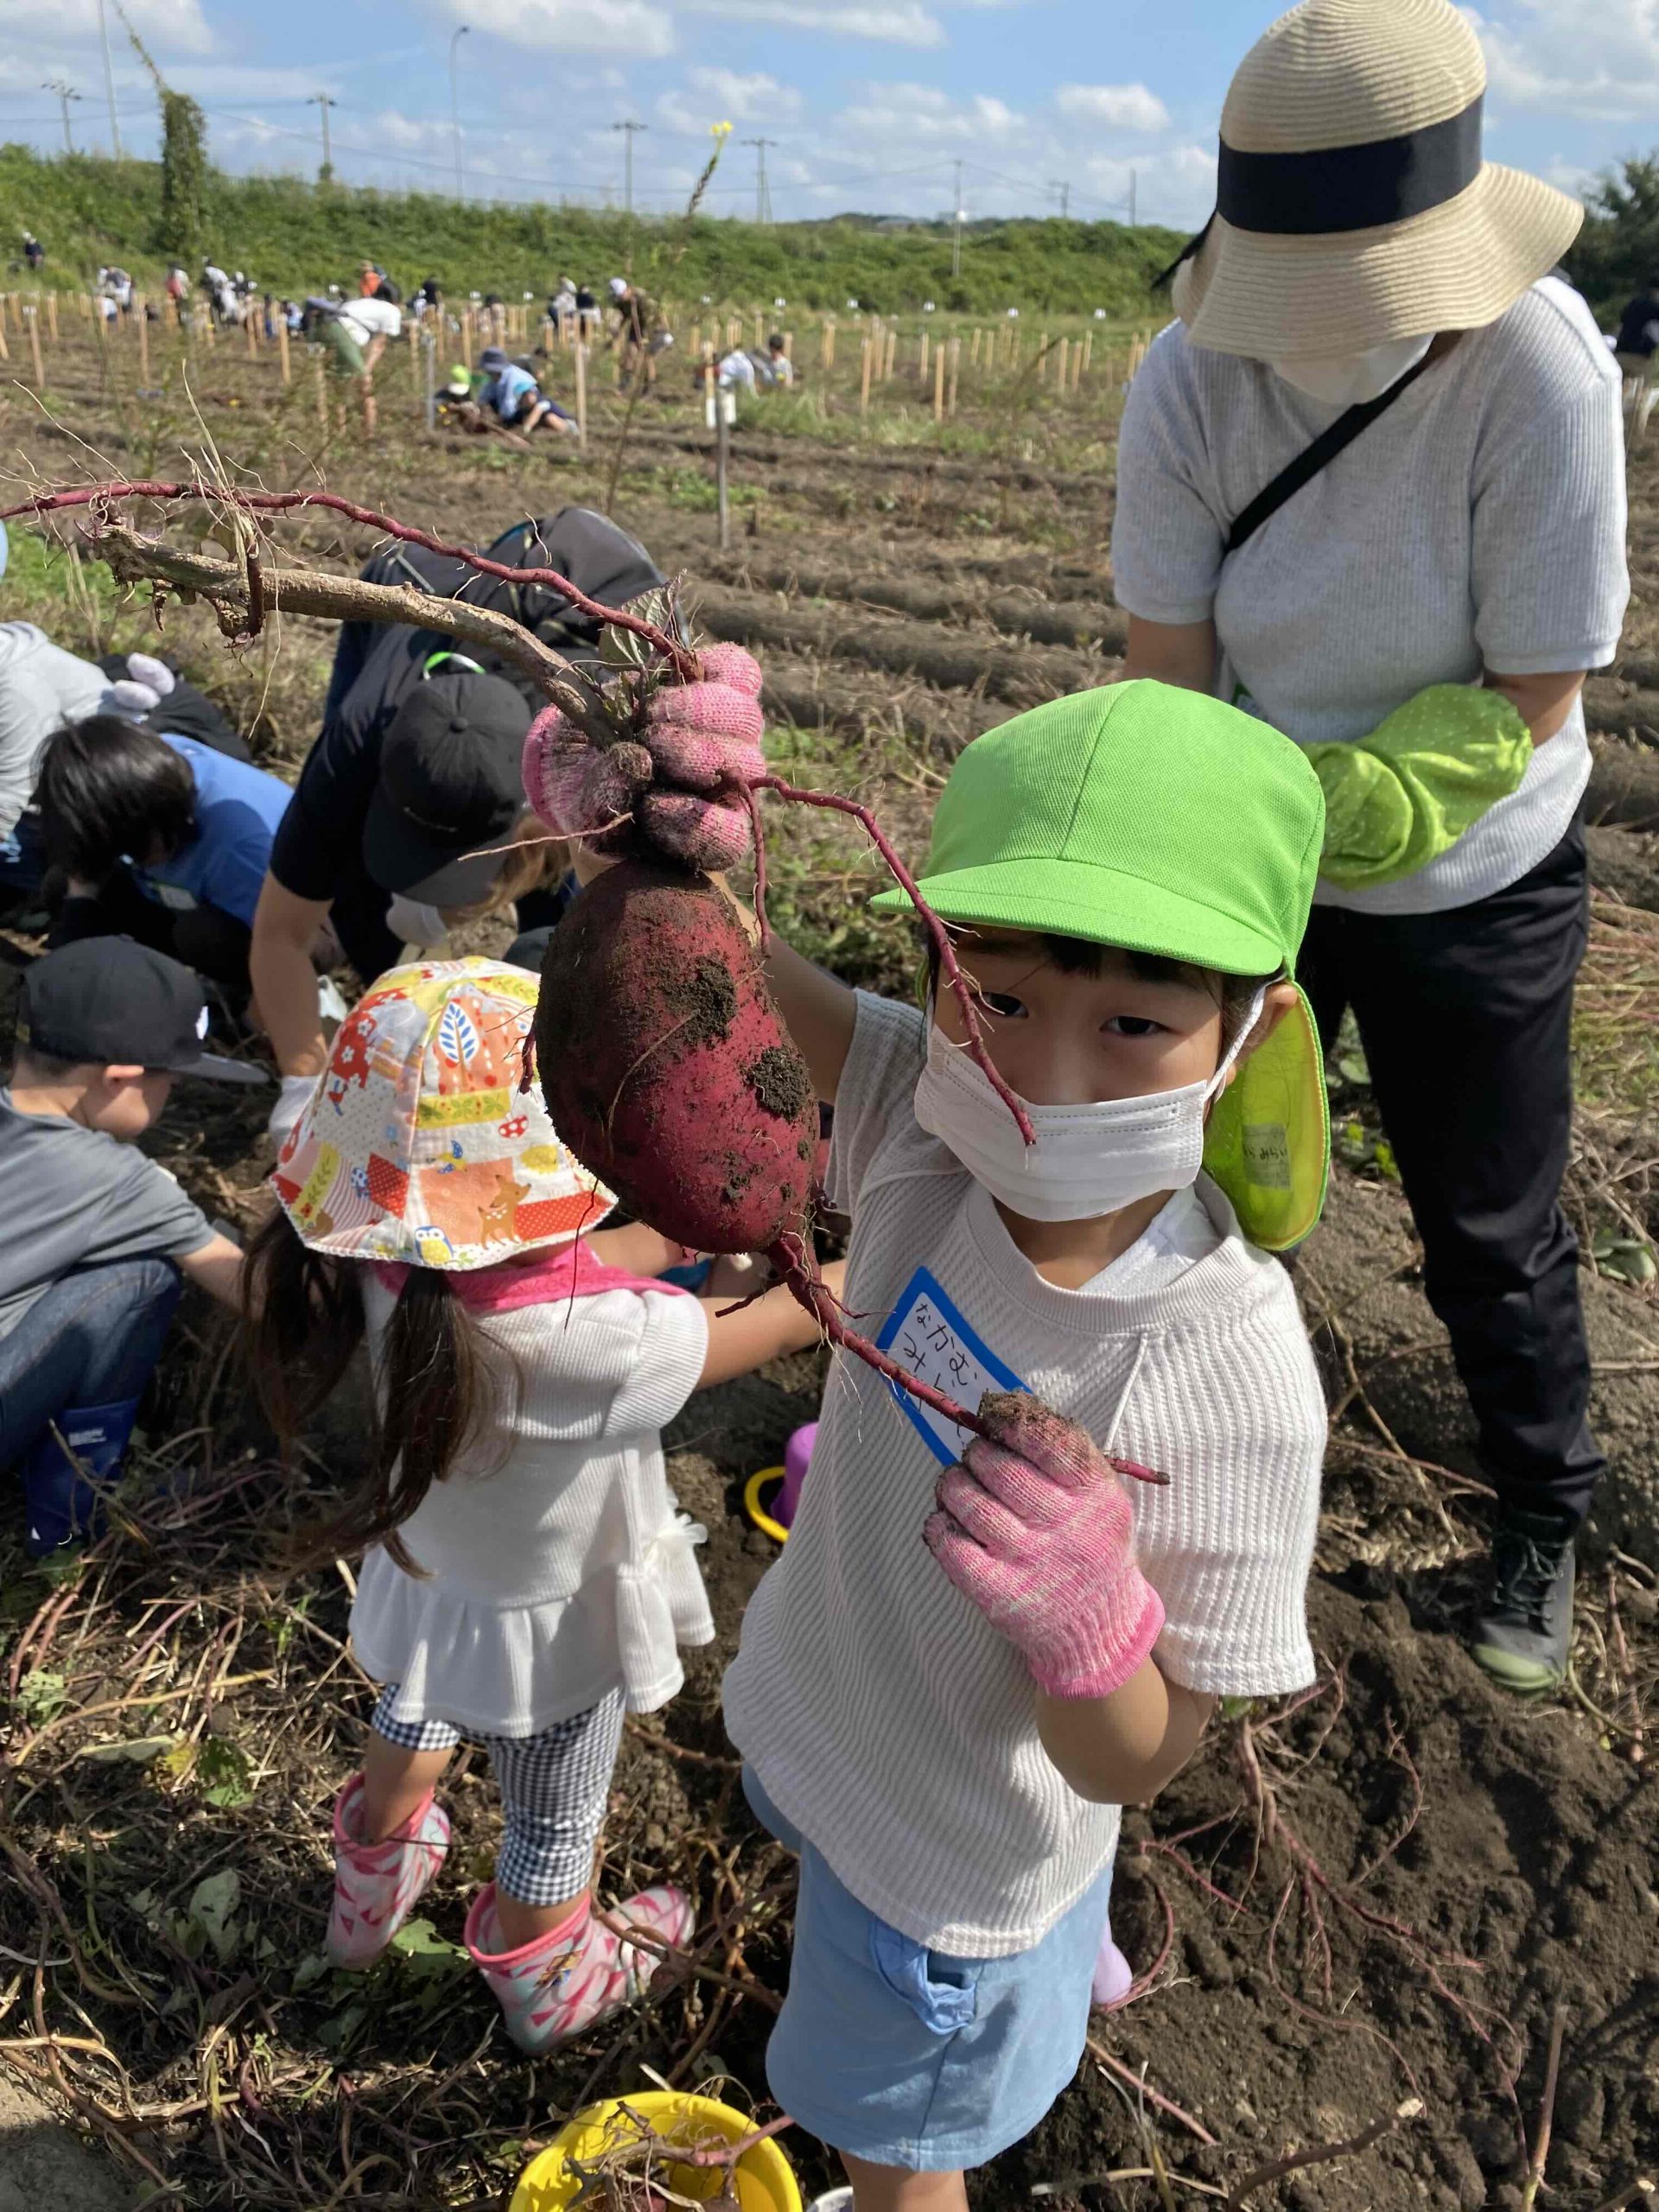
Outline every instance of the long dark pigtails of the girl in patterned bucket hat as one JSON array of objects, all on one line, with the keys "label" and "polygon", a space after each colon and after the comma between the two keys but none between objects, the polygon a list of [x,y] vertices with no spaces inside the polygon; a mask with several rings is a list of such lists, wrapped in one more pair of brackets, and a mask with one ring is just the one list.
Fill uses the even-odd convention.
[{"label": "long dark pigtails of the girl in patterned bucket hat", "polygon": [[[243,1352],[259,1402],[288,1451],[363,1343],[363,1261],[312,1252],[276,1208],[248,1250]],[[436,1267],[411,1267],[376,1371],[367,1473],[296,1548],[296,1566],[383,1544],[405,1571],[398,1528],[500,1405],[502,1369],[471,1312]]]}]

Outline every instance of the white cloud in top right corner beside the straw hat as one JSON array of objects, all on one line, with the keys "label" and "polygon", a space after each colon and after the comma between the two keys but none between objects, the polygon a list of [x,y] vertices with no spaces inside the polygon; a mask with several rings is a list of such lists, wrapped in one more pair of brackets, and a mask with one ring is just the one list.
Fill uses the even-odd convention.
[{"label": "white cloud in top right corner beside the straw hat", "polygon": [[1659,108],[1659,0],[1506,0],[1498,13],[1464,7],[1486,53],[1491,88],[1517,108],[1590,122]]}]

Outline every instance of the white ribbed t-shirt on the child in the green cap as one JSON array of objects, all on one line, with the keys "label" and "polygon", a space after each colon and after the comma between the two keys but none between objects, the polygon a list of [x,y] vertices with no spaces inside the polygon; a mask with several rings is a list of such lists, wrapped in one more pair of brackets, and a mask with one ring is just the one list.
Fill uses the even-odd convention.
[{"label": "white ribbed t-shirt on the child in the green cap", "polygon": [[[1325,1400],[1290,1276],[1201,1181],[1146,1254],[1084,1290],[1044,1283],[918,1126],[922,1064],[925,1018],[860,993],[830,1159],[852,1210],[847,1310],[947,1391],[1024,1383],[1170,1478],[1130,1484],[1130,1504],[1172,1681],[1303,1688]],[[1024,1659],[922,1551],[960,1431],[936,1449],[905,1407],[836,1354],[787,1548],[726,1677],[726,1728],[869,1911],[931,1949],[1006,1958],[1110,1865],[1119,1809],[1062,1781]]]}]

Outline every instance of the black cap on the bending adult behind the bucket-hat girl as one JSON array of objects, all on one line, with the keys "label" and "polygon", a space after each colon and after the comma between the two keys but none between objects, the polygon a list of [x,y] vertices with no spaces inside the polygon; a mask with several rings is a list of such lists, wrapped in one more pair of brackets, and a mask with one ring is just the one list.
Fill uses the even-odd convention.
[{"label": "black cap on the bending adult behind the bucket-hat girl", "polygon": [[383,891],[469,907],[502,869],[524,812],[531,710],[504,677],[427,677],[380,741],[380,781],[363,823],[363,865]]}]

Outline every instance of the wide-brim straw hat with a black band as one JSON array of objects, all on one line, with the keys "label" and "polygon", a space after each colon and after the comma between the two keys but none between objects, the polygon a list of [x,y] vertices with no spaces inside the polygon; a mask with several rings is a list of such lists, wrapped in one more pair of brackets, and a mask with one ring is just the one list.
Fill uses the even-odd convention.
[{"label": "wide-brim straw hat with a black band", "polygon": [[1486,62],[1447,0],[1303,0],[1221,111],[1217,212],[1170,296],[1192,345],[1283,361],[1478,330],[1584,210],[1480,157]]}]

